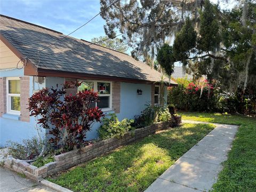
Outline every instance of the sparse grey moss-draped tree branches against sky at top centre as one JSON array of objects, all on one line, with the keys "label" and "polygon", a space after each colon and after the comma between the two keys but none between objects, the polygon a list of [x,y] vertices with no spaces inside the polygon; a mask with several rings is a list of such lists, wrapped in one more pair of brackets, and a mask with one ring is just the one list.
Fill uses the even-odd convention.
[{"label": "sparse grey moss-draped tree branches against sky at top centre", "polygon": [[[101,11],[113,2],[101,0]],[[101,17],[106,21],[104,28],[108,37],[124,33],[123,40],[133,49],[134,58],[146,60],[150,56],[154,59],[157,48],[180,29],[184,15],[191,14],[193,20],[196,20],[201,2],[203,1],[118,1],[103,11]],[[151,62],[151,66],[152,63],[154,62]]]}]

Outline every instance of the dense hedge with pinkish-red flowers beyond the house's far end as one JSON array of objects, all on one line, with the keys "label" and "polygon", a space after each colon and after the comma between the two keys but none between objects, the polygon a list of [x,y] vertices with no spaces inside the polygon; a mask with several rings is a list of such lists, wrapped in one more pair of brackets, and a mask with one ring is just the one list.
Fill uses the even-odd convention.
[{"label": "dense hedge with pinkish-red flowers beyond the house's far end", "polygon": [[239,92],[222,91],[217,84],[204,81],[177,79],[179,85],[169,90],[168,103],[188,111],[217,111],[221,113],[256,114],[255,100],[244,98]]}]

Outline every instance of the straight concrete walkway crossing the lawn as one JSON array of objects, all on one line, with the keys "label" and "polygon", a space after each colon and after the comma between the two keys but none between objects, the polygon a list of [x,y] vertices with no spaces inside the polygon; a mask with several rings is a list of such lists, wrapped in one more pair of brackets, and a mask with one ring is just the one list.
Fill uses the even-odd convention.
[{"label": "straight concrete walkway crossing the lawn", "polygon": [[[182,121],[182,123],[205,123]],[[215,124],[216,127],[182,155],[158,177],[145,192],[208,191],[227,160],[238,126]]]}]

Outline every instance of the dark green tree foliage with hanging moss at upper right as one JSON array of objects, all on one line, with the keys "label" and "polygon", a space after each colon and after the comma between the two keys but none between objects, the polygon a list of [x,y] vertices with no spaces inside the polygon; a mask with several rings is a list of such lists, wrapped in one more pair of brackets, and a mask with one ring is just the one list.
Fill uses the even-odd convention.
[{"label": "dark green tree foliage with hanging moss at upper right", "polygon": [[188,65],[187,71],[194,79],[205,75],[209,82],[217,82],[221,90],[234,92],[240,108],[245,106],[245,100],[256,103],[255,10],[253,1],[238,2],[233,10],[223,11],[205,0],[198,23],[187,18],[175,34],[169,48],[172,54],[161,54],[166,45],[159,49],[158,54],[165,57],[159,59],[159,64],[167,75],[174,62]]}]

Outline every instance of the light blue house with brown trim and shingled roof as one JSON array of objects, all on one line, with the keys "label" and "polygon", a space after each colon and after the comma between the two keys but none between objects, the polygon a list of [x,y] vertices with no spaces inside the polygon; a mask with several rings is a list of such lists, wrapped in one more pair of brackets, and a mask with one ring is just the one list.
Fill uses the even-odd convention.
[{"label": "light blue house with brown trim and shingled roof", "polygon": [[[43,87],[82,81],[83,87],[99,92],[100,102],[96,105],[106,115],[116,113],[119,119],[133,118],[146,103],[158,102],[156,82],[161,74],[127,54],[83,39],[64,38],[58,31],[4,15],[0,16],[0,24],[1,145],[7,140],[19,142],[44,134],[45,130],[38,127],[27,109],[28,98]],[[60,42],[47,47],[59,39]],[[175,85],[170,82],[170,86]],[[166,90],[167,86],[165,97]],[[68,92],[74,94],[77,90]],[[99,126],[93,125],[87,139],[97,137]]]}]

